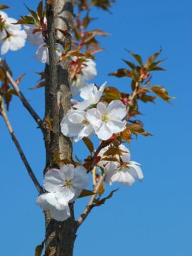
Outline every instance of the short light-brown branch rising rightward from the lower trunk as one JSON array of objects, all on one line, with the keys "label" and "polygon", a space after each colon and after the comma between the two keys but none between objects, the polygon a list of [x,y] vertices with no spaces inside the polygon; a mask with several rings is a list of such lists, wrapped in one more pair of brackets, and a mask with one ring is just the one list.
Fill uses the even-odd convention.
[{"label": "short light-brown branch rising rightward from the lower trunk", "polygon": [[85,220],[85,218],[87,218],[87,216],[90,214],[92,208],[95,206],[94,205],[94,200],[97,196],[97,192],[100,188],[100,185],[102,184],[102,182],[104,181],[105,179],[105,174],[101,175],[100,176],[100,179],[99,181],[96,183],[96,185],[94,186],[94,189],[93,189],[93,193],[95,193],[94,195],[92,195],[90,197],[90,200],[88,201],[87,203],[87,206],[85,207],[85,210],[83,210],[82,214],[80,215],[80,217],[78,218],[77,220],[77,226],[78,228],[80,227],[80,225],[83,223],[83,221]]}]

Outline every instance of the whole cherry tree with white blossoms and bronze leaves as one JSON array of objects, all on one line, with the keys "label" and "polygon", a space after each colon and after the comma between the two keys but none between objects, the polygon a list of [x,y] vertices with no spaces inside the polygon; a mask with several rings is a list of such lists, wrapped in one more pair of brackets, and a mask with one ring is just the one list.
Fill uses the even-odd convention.
[{"label": "whole cherry tree with white blossoms and bronze leaves", "polygon": [[[109,75],[127,78],[130,86],[126,92],[105,81],[102,85],[94,83],[96,56],[102,51],[97,38],[107,33],[89,29],[93,20],[90,14],[92,8],[110,11],[113,3],[113,0],[41,0],[36,10],[26,6],[26,14],[18,20],[6,14],[9,6],[0,5],[0,114],[38,191],[36,203],[45,214],[46,237],[36,247],[36,255],[43,253],[43,247],[47,256],[73,255],[78,228],[95,207],[112,198],[117,191],[113,184],[132,186],[144,178],[140,164],[131,160],[128,149],[133,137],[151,135],[139,120],[139,102],[154,102],[156,97],[169,102],[172,98],[164,87],[151,82],[151,73],[164,70],[159,66],[163,62],[158,59],[161,50],[145,62],[140,55],[125,51],[124,68]],[[21,50],[26,40],[36,46],[34,55],[45,64],[45,70],[39,73],[41,82],[33,87],[45,89],[43,118],[19,88],[22,75],[14,80],[10,63],[4,60],[8,51]],[[12,97],[21,100],[43,134],[46,166],[42,170],[42,185],[11,125],[8,111]],[[97,138],[97,143],[92,138]],[[90,151],[84,161],[73,152],[73,144],[80,140]],[[104,196],[108,185],[112,191]],[[87,205],[75,219],[75,202],[82,197],[88,198]]]}]

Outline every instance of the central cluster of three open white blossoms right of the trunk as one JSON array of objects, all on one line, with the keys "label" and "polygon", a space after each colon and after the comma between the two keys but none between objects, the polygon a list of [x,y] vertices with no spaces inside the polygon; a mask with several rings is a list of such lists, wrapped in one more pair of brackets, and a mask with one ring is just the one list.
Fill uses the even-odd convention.
[{"label": "central cluster of three open white blossoms right of the trunk", "polygon": [[125,129],[126,121],[123,119],[127,112],[123,103],[112,100],[106,106],[103,102],[99,102],[105,84],[99,90],[95,85],[87,85],[80,89],[80,96],[84,101],[74,105],[76,110],[69,110],[61,122],[61,131],[65,136],[76,137],[75,142],[78,142],[95,132],[99,139],[107,140],[112,134]]}]

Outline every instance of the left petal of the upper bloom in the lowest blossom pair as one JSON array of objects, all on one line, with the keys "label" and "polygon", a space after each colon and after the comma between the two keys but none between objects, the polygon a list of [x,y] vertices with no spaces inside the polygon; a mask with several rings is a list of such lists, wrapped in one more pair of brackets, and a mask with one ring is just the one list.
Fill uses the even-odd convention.
[{"label": "left petal of the upper bloom in the lowest blossom pair", "polygon": [[48,192],[55,192],[58,190],[58,186],[63,186],[63,177],[60,175],[60,170],[48,170],[45,174],[43,186]]}]

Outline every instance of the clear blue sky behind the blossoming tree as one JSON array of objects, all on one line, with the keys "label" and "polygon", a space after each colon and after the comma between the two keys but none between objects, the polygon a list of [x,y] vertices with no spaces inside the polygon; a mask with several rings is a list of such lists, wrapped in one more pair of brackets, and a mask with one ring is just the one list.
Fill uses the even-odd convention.
[{"label": "clear blue sky behind the blossoming tree", "polygon": [[[38,3],[25,1],[31,8],[36,6],[34,2]],[[12,6],[8,13],[14,18],[27,14],[23,1],[6,0],[2,4]],[[141,105],[145,129],[154,137],[138,137],[130,149],[132,160],[142,164],[144,181],[129,188],[121,186],[112,200],[92,211],[78,230],[75,256],[192,255],[191,11],[190,0],[119,0],[112,8],[112,15],[102,11],[93,14],[100,17],[93,26],[112,33],[101,40],[107,50],[97,54],[97,84],[107,80],[109,85],[123,90],[127,80],[107,74],[124,67],[121,58],[128,56],[124,48],[146,58],[161,46],[162,57],[168,57],[164,63],[167,71],[154,74],[154,84],[164,85],[177,100],[172,105],[161,100],[156,105]],[[28,90],[38,80],[33,71],[43,70],[43,65],[33,58],[35,49],[27,43],[22,50],[8,53],[6,60],[14,78],[26,73],[21,90],[43,117],[43,88]],[[9,117],[33,170],[42,181],[45,154],[41,132],[18,99],[11,102]],[[33,256],[34,248],[44,238],[44,218],[36,206],[36,190],[2,119],[0,142],[1,255]],[[85,155],[81,152],[83,159]],[[85,201],[79,201],[78,213],[84,204]]]}]

